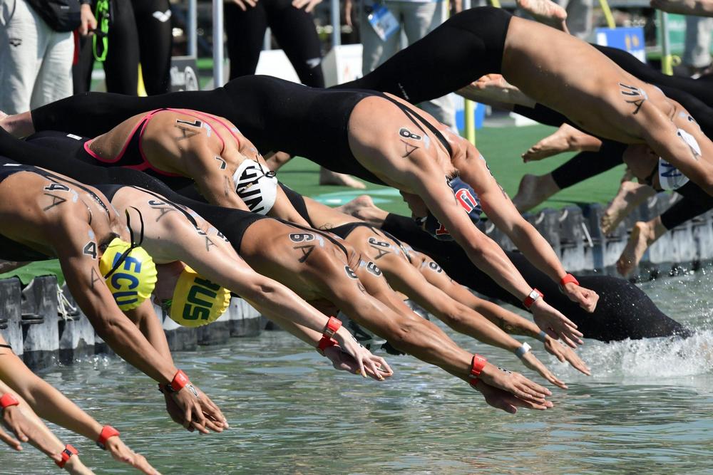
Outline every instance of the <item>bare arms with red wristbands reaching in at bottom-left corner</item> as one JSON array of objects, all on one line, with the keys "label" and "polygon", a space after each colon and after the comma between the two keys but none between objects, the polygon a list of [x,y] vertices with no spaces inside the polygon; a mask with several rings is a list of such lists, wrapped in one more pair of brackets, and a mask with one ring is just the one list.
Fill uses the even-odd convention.
[{"label": "bare arms with red wristbands reaching in at bottom-left corner", "polygon": [[[3,400],[6,400],[9,405],[1,404]],[[1,335],[0,404],[4,407],[0,410],[6,427],[11,429],[21,441],[31,442],[60,468],[65,468],[70,473],[87,473],[88,469],[87,471],[85,471],[86,467],[82,469],[83,465],[78,461],[76,452],[71,450],[73,447],[64,445],[53,437],[39,417],[96,442],[117,461],[122,461],[148,475],[158,474],[158,471],[150,466],[143,456],[126,447],[116,429],[96,422],[61,392],[31,372],[12,352],[10,345],[7,345]],[[9,445],[15,449],[21,448],[18,441],[11,442]]]}]

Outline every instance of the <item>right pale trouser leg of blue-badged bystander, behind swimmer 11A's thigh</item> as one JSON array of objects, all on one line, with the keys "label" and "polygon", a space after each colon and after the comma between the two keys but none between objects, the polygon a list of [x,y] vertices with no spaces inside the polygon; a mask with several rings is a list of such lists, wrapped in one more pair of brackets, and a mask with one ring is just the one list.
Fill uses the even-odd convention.
[{"label": "right pale trouser leg of blue-badged bystander, behind swimmer 11A's thigh", "polygon": [[[404,31],[406,31],[406,38],[409,39],[409,45],[411,45],[446,20],[446,2],[404,2],[403,15]],[[442,122],[448,127],[455,127],[456,110],[451,95],[429,100],[419,104],[419,107],[433,115],[438,122]]]}]

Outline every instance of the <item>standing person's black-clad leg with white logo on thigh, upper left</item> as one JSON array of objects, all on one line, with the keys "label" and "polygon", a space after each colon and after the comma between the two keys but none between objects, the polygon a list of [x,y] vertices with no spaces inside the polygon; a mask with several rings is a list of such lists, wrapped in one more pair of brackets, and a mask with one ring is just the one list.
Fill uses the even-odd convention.
[{"label": "standing person's black-clad leg with white logo on thigh, upper left", "polygon": [[173,34],[168,0],[131,0],[138,30],[143,85],[148,95],[168,93]]}]

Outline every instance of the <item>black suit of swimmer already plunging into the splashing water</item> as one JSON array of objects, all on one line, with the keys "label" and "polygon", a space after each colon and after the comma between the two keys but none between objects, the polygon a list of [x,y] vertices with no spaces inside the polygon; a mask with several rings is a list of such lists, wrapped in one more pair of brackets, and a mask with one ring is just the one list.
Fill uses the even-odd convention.
[{"label": "black suit of swimmer already plunging into the splashing water", "polygon": [[[381,229],[431,256],[451,278],[490,298],[497,298],[523,308],[522,303],[473,266],[458,244],[438,241],[421,231],[412,219],[389,214]],[[547,296],[547,302],[578,325],[586,338],[603,341],[625,338],[653,338],[689,335],[690,331],[661,312],[639,288],[620,278],[580,276],[580,283],[599,293],[594,313],[587,313],[558,290],[545,273],[529,263],[522,254],[507,252],[508,258],[526,281]]]}]

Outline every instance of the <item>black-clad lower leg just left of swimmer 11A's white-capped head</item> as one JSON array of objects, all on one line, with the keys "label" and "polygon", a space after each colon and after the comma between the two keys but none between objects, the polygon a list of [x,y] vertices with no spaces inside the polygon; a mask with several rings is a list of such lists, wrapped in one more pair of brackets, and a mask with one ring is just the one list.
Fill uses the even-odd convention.
[{"label": "black-clad lower leg just left of swimmer 11A's white-capped head", "polygon": [[565,189],[604,173],[622,164],[626,147],[620,142],[603,140],[602,147],[597,152],[579,152],[568,162],[553,169],[552,179],[560,189]]}]

